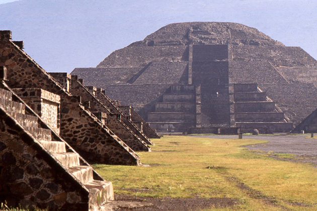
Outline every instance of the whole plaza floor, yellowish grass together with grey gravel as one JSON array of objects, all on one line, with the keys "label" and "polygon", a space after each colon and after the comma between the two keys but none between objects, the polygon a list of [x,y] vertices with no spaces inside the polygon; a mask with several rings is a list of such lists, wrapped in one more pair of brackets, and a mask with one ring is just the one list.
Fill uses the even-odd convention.
[{"label": "whole plaza floor, yellowish grass together with grey gravel", "polygon": [[149,166],[94,167],[113,182],[116,210],[316,210],[309,137],[165,136],[139,153]]}]

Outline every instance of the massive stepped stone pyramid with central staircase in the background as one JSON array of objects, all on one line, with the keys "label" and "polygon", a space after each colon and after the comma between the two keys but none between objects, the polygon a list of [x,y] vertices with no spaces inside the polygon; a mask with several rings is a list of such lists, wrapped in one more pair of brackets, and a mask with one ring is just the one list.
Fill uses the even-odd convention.
[{"label": "massive stepped stone pyramid with central staircase in the background", "polygon": [[161,131],[288,132],[317,107],[317,61],[235,23],[170,24],[71,74]]}]

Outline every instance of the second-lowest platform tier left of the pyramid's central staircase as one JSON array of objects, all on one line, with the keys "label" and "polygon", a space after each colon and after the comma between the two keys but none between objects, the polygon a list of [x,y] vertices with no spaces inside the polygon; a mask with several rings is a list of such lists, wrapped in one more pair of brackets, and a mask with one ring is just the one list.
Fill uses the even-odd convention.
[{"label": "second-lowest platform tier left of the pyramid's central staircase", "polygon": [[149,112],[147,120],[149,122],[179,122],[187,123],[195,121],[195,115],[191,113],[176,112]]}]

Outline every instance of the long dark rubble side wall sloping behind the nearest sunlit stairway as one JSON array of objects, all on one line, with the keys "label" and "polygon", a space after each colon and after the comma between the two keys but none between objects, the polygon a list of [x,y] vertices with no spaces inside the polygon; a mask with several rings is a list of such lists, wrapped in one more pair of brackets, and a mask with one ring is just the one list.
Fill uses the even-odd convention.
[{"label": "long dark rubble side wall sloping behind the nearest sunlit stairway", "polygon": [[137,155],[127,151],[125,148],[128,147],[115,140],[108,128],[80,107],[78,98],[65,92],[52,76],[9,39],[0,40],[0,51],[3,55],[0,66],[8,69],[10,87],[44,88],[61,96],[60,135],[85,159],[109,164],[135,165],[139,162]]}]

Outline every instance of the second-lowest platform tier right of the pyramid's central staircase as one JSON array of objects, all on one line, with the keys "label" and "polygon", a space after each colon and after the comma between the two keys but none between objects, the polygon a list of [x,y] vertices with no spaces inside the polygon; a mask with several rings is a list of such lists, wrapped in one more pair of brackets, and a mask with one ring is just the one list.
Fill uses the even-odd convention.
[{"label": "second-lowest platform tier right of the pyramid's central staircase", "polygon": [[249,112],[236,113],[236,122],[283,122],[284,113],[281,112]]}]

